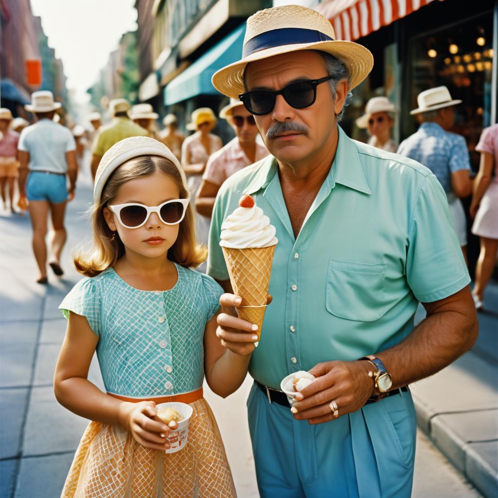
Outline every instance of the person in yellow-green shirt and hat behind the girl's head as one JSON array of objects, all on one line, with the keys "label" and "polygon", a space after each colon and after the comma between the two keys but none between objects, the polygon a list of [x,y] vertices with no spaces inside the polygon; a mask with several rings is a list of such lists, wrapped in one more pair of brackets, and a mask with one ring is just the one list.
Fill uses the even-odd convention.
[{"label": "person in yellow-green shirt and hat behind the girl's head", "polygon": [[130,136],[148,135],[147,130],[143,129],[138,124],[133,123],[128,118],[129,108],[130,105],[126,99],[113,99],[109,103],[109,109],[111,110],[113,120],[111,123],[102,126],[99,129],[99,134],[93,144],[92,163],[90,165],[93,178],[95,178],[95,173],[97,172],[102,156],[115,143]]}]

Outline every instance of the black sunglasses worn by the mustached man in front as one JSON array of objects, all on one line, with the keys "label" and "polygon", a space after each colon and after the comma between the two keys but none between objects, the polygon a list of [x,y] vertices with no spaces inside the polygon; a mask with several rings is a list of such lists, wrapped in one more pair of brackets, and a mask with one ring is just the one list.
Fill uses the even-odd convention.
[{"label": "black sunglasses worn by the mustached man in front", "polygon": [[264,116],[271,113],[275,107],[277,95],[281,95],[289,106],[294,109],[310,107],[316,100],[316,87],[334,76],[325,76],[319,80],[296,81],[281,90],[252,90],[239,95],[239,99],[249,113]]}]

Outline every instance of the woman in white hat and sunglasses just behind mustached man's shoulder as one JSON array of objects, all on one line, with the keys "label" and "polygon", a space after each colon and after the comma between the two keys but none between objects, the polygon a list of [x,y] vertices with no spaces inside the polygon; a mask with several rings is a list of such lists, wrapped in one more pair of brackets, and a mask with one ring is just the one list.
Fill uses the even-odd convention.
[{"label": "woman in white hat and sunglasses just behind mustached man's shoulder", "polygon": [[398,144],[391,138],[395,112],[394,104],[387,97],[373,97],[367,102],[365,114],[356,120],[356,125],[359,128],[368,128],[369,145],[396,152]]}]

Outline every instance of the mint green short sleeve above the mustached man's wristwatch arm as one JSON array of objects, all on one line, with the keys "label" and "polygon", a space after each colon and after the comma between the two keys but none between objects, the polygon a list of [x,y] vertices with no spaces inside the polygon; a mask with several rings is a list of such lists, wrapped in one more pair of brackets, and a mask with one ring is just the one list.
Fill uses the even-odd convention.
[{"label": "mint green short sleeve above the mustached man's wristwatch arm", "polygon": [[426,303],[451,296],[470,282],[446,194],[433,174],[425,178],[415,204],[406,278],[415,297]]}]

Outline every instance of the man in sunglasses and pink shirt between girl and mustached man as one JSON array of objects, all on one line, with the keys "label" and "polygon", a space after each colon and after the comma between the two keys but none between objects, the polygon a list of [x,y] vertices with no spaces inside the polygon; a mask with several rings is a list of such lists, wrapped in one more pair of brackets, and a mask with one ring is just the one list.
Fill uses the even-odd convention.
[{"label": "man in sunglasses and pink shirt between girl and mustached man", "polygon": [[259,130],[254,116],[240,100],[230,99],[230,104],[221,110],[220,118],[229,122],[236,136],[212,154],[206,164],[195,207],[199,214],[209,217],[221,184],[237,171],[268,155],[266,147],[256,141]]}]

